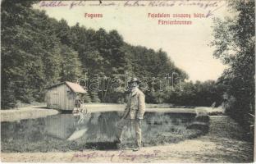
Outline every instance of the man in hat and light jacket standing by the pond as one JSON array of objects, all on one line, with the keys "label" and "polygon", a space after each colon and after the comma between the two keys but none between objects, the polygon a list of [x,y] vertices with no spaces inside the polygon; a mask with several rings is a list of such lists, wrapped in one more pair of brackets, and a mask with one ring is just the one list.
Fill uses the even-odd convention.
[{"label": "man in hat and light jacket standing by the pond", "polygon": [[131,123],[135,127],[136,134],[136,148],[134,151],[138,151],[141,147],[141,120],[145,112],[145,98],[144,93],[138,89],[139,80],[136,78],[131,79],[128,82],[128,86],[130,93],[126,109],[121,121],[117,123],[117,143],[121,143],[121,133],[124,126]]}]

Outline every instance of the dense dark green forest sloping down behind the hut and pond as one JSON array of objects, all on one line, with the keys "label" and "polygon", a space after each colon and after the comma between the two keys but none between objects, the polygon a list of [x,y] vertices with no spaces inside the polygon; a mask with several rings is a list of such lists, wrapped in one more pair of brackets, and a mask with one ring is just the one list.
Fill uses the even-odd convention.
[{"label": "dense dark green forest sloping down behind the hut and pond", "polygon": [[[188,75],[162,49],[132,46],[117,30],[69,26],[34,10],[32,4],[2,2],[2,108],[43,102],[49,85],[79,79],[86,81],[89,90],[86,102],[123,103],[131,76],[143,80],[147,103],[209,106],[221,102],[214,81],[185,82]],[[165,78],[173,73],[175,80]]]}]

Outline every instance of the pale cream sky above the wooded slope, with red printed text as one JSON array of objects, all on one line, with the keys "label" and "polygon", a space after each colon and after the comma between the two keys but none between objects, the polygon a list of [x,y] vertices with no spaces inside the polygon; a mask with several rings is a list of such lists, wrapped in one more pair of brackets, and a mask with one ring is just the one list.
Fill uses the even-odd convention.
[{"label": "pale cream sky above the wooded slope, with red printed text", "polygon": [[[170,5],[173,4],[169,7],[152,7],[149,2],[153,1],[139,1],[136,3],[140,5],[139,7],[136,4],[134,7],[127,6],[135,2],[103,0],[102,5],[98,6],[98,1],[67,1],[58,3],[58,7],[53,7],[57,6],[57,3],[39,2],[34,5],[34,8],[46,11],[48,16],[57,20],[64,19],[68,25],[75,25],[79,22],[87,29],[117,30],[123,39],[132,45],[141,45],[154,50],[162,48],[176,66],[187,72],[190,80],[217,80],[222,75],[225,66],[222,65],[220,59],[213,57],[214,47],[208,45],[213,40],[213,18],[223,19],[224,16],[229,16],[225,1],[213,4],[214,1],[170,0],[166,1]],[[193,5],[199,4],[196,2],[204,6]],[[211,5],[213,7],[209,7]],[[209,11],[211,15],[208,17],[194,17],[194,14],[207,16]],[[99,14],[103,17],[85,17],[85,13]],[[164,13],[171,17],[152,18],[149,13]],[[186,14],[186,16],[190,15],[190,18],[174,18],[174,14]],[[192,24],[158,25],[158,20],[191,21]]]}]

